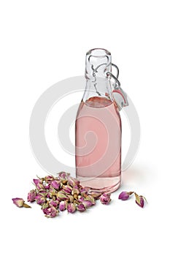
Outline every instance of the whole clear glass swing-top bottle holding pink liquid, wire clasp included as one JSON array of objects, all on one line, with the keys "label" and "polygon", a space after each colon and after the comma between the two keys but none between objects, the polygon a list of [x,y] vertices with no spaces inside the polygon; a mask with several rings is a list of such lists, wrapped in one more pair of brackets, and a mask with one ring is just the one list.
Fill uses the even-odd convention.
[{"label": "whole clear glass swing-top bottle holding pink liquid, wire clasp included", "polygon": [[[108,50],[96,48],[86,54],[86,88],[75,124],[76,176],[89,192],[113,192],[121,181],[121,119],[127,104],[120,83],[112,75]],[[117,68],[117,66],[115,66]],[[118,69],[117,69],[118,76]],[[114,78],[112,84],[110,78]],[[114,86],[114,90],[112,89]],[[122,101],[115,102],[114,91]]]}]

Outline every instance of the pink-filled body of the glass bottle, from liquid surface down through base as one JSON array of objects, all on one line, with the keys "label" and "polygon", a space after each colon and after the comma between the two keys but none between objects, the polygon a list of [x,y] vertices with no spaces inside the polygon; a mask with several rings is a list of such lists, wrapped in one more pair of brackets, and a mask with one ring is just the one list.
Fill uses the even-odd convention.
[{"label": "pink-filled body of the glass bottle, from liquid surface down through base", "polygon": [[76,172],[91,192],[113,192],[121,179],[121,120],[115,102],[91,97],[76,120]]}]

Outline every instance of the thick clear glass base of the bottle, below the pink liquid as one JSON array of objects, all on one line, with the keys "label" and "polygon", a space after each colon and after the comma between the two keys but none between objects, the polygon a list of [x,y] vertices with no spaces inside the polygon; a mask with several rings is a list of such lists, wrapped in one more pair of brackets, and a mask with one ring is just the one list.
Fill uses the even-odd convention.
[{"label": "thick clear glass base of the bottle, below the pink liquid", "polygon": [[87,178],[77,176],[77,179],[80,181],[82,187],[88,190],[89,194],[93,193],[112,193],[115,192],[120,187],[121,184],[121,176],[116,176],[112,178],[105,177],[95,177]]}]

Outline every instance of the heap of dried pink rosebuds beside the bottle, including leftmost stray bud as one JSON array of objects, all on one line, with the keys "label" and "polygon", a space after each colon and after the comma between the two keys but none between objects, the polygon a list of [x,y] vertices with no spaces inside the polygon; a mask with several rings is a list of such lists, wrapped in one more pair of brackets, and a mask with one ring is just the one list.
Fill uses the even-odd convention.
[{"label": "heap of dried pink rosebuds beside the bottle, including leftmost stray bud", "polygon": [[[57,177],[45,176],[45,178],[34,178],[35,189],[28,192],[28,202],[36,201],[42,208],[45,217],[56,217],[60,211],[83,212],[96,204],[108,205],[111,201],[110,194],[90,193],[80,185],[80,181],[72,178],[69,173],[58,173]],[[30,207],[24,203],[22,198],[13,198],[13,203],[18,207]]]}]

